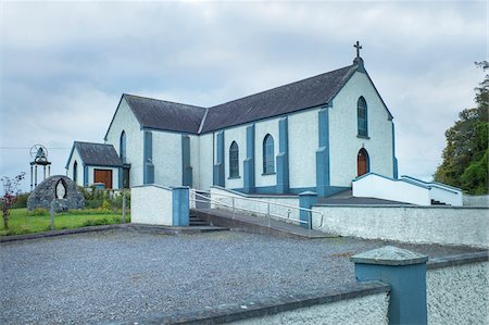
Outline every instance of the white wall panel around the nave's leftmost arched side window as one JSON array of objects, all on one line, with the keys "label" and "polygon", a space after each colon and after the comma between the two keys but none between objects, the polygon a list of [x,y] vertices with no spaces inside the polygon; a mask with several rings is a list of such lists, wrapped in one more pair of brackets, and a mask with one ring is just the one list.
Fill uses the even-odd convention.
[{"label": "white wall panel around the nave's leftmost arched side window", "polygon": [[[229,147],[236,141],[239,148],[239,178],[229,178]],[[224,179],[226,188],[243,187],[243,160],[247,158],[247,125],[224,132]]]}]

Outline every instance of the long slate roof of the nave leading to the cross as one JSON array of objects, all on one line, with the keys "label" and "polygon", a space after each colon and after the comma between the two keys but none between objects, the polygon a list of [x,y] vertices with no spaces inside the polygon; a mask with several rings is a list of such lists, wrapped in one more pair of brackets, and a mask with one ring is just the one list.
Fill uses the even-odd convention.
[{"label": "long slate roof of the nave leading to the cross", "polygon": [[201,133],[326,104],[356,68],[349,65],[210,108]]}]

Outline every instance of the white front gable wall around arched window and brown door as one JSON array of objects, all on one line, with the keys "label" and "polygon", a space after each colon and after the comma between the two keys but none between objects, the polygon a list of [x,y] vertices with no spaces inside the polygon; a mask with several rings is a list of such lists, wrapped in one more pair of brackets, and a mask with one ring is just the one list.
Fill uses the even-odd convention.
[{"label": "white front gable wall around arched window and brown door", "polygon": [[[368,108],[368,137],[358,138],[356,103],[363,96]],[[392,124],[368,77],[356,72],[329,109],[330,185],[351,186],[356,177],[356,155],[368,152],[371,172],[392,177]]]}]

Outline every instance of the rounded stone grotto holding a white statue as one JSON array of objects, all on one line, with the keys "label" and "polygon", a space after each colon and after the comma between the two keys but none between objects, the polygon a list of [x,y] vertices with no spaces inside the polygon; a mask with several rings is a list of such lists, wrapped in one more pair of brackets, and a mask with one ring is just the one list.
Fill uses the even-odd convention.
[{"label": "rounded stone grotto holding a white statue", "polygon": [[54,212],[85,207],[84,195],[70,177],[63,175],[51,176],[40,183],[30,192],[27,209],[29,211],[36,208],[51,210],[52,202]]}]

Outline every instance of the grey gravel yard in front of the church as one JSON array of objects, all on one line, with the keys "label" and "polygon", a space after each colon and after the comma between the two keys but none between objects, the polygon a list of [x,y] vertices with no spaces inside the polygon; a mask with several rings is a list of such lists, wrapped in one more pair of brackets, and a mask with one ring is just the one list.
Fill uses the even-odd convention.
[{"label": "grey gravel yard in front of the church", "polygon": [[[1,324],[99,324],[354,282],[349,257],[389,245],[240,232],[111,230],[1,245]],[[400,245],[442,257],[472,250]]]}]

